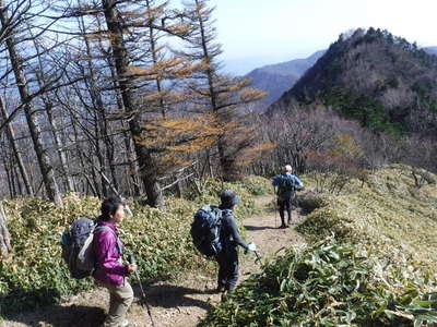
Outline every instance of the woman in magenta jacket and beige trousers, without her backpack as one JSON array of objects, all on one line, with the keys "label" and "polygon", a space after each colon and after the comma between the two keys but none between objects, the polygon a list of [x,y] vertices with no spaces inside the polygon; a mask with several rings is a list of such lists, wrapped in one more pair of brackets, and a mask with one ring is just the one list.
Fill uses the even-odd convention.
[{"label": "woman in magenta jacket and beige trousers, without her backpack", "polygon": [[126,313],[133,300],[132,287],[127,276],[137,270],[135,265],[121,262],[122,244],[118,238],[117,226],[125,218],[125,204],[117,197],[108,197],[102,203],[93,247],[97,268],[93,277],[109,291],[109,311],[105,327],[126,327]]}]

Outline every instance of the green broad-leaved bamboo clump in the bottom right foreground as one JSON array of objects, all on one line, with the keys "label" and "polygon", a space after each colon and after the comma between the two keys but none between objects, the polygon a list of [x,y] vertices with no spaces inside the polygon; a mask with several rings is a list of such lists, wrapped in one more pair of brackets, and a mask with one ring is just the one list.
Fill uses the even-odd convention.
[{"label": "green broad-leaved bamboo clump in the bottom right foreground", "polygon": [[[375,263],[328,238],[288,249],[243,282],[200,326],[421,326],[437,322],[435,294],[405,277],[385,283]],[[416,325],[417,324],[417,325]],[[428,325],[430,326],[430,325]]]}]

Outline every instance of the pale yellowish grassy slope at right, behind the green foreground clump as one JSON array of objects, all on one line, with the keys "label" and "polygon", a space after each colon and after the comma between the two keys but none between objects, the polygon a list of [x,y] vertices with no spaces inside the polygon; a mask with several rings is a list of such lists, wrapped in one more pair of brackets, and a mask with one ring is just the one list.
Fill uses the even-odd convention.
[{"label": "pale yellowish grassy slope at right, behind the green foreground clump", "polygon": [[390,165],[369,174],[364,183],[351,181],[342,195],[320,194],[327,205],[309,214],[298,231],[315,239],[333,232],[376,249],[381,257],[411,255],[434,268],[437,186],[417,189],[411,169]]}]

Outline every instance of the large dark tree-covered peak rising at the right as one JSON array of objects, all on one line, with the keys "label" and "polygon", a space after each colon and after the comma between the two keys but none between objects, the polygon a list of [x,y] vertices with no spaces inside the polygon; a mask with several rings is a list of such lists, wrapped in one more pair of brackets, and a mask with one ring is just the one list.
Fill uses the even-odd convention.
[{"label": "large dark tree-covered peak rising at the right", "polygon": [[[321,101],[377,131],[437,131],[437,57],[387,31],[341,35],[271,110]],[[277,106],[279,105],[279,106]]]}]

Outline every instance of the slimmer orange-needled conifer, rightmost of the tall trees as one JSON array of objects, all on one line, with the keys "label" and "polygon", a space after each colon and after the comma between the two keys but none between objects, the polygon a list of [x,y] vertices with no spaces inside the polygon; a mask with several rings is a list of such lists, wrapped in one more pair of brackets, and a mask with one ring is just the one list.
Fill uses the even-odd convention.
[{"label": "slimmer orange-needled conifer, rightmost of the tall trees", "polygon": [[247,87],[250,80],[231,77],[220,72],[218,56],[222,47],[216,43],[216,32],[212,13],[206,0],[193,0],[187,3],[189,22],[193,32],[188,39],[186,50],[180,56],[198,62],[198,70],[189,85],[196,102],[204,112],[215,116],[223,133],[217,138],[220,166],[224,180],[239,177],[238,153],[252,144],[250,128],[244,125],[238,108],[265,96],[265,93]]}]

